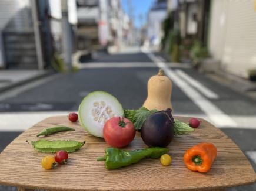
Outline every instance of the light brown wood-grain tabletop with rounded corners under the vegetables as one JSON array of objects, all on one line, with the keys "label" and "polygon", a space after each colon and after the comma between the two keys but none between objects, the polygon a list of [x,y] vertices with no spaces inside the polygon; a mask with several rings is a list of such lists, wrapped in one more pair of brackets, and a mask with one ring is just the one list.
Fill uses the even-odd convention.
[{"label": "light brown wood-grain tabletop with rounded corners under the vegetables", "polygon": [[[188,122],[187,117],[175,117]],[[87,141],[77,152],[69,154],[68,163],[45,170],[41,160],[46,155],[35,151],[26,140],[38,140],[36,134],[45,127],[67,125],[75,131],[59,132],[45,139],[74,139]],[[183,161],[185,150],[199,142],[212,142],[218,150],[210,172],[188,170]],[[46,190],[209,190],[253,183],[255,172],[242,151],[223,132],[202,120],[192,134],[175,137],[169,145],[171,166],[162,166],[159,159],[142,161],[125,168],[107,170],[104,156],[108,145],[104,139],[93,137],[67,116],[51,117],[19,135],[0,154],[0,184]],[[147,147],[137,133],[127,149]]]}]

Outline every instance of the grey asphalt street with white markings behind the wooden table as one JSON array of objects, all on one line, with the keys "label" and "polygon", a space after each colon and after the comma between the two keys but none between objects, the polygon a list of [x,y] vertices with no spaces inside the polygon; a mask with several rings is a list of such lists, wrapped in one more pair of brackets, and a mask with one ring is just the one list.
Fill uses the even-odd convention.
[{"label": "grey asphalt street with white markings behind the wooden table", "polygon": [[[77,73],[55,74],[0,94],[0,120],[5,120],[0,125],[0,152],[35,120],[77,111],[82,98],[91,91],[108,91],[124,108],[141,107],[147,97],[149,77],[164,67],[173,81],[174,114],[202,117],[220,127],[256,170],[255,100],[212,81],[187,64],[167,65],[157,54],[134,50],[81,61],[84,63]],[[14,188],[2,186],[0,190]],[[256,190],[256,185],[229,190]]]}]

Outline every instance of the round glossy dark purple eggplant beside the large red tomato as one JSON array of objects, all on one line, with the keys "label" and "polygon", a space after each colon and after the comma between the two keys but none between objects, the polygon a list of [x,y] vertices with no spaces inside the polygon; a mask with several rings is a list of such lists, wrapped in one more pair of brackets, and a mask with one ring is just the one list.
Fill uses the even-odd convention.
[{"label": "round glossy dark purple eggplant beside the large red tomato", "polygon": [[168,146],[174,137],[171,109],[150,115],[141,127],[141,138],[148,146]]}]

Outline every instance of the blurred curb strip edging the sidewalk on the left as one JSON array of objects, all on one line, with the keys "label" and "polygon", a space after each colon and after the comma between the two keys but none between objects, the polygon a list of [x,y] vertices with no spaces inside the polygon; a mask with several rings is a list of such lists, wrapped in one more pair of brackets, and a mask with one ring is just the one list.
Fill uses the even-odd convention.
[{"label": "blurred curb strip edging the sidewalk on the left", "polygon": [[52,74],[55,74],[56,72],[54,70],[49,70],[49,71],[45,71],[44,73],[42,74],[38,74],[36,76],[33,76],[33,77],[30,77],[28,79],[25,79],[25,80],[22,80],[22,81],[18,81],[16,83],[11,83],[9,84],[8,86],[5,86],[5,87],[1,87],[0,88],[0,93],[3,93],[5,91],[8,91],[8,90],[11,90],[12,88],[15,88],[15,87],[18,87],[18,86],[21,86],[21,85],[24,85],[26,83],[29,83],[31,81],[34,81],[34,80],[39,80],[39,79],[42,79],[44,77],[47,77],[47,76],[51,76]]}]

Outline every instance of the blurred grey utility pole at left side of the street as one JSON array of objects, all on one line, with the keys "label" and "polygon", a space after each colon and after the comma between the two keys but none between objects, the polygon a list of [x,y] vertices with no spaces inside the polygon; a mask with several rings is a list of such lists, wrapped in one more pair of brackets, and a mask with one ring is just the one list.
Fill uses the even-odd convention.
[{"label": "blurred grey utility pole at left side of the street", "polygon": [[62,53],[64,54],[64,63],[68,69],[72,69],[72,34],[71,24],[68,22],[68,0],[61,0],[62,13]]}]

